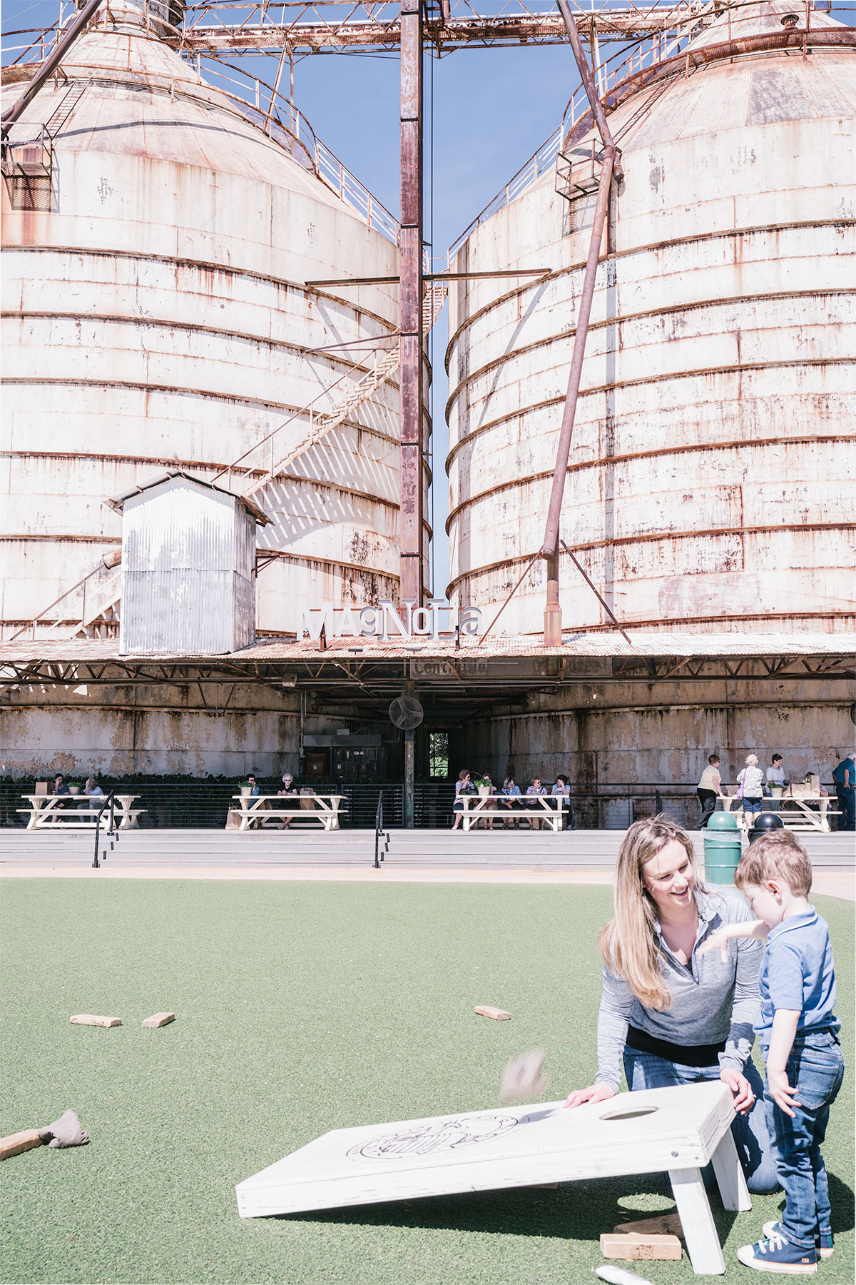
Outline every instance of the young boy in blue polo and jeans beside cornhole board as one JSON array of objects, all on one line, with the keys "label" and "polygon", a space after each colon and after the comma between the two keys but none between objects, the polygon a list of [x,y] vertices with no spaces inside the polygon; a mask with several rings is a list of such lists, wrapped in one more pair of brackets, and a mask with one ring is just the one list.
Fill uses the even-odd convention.
[{"label": "young boy in blue polo and jeans beside cornhole board", "polygon": [[788,830],[756,839],[734,883],[757,920],[720,928],[702,951],[724,952],[734,937],[767,939],[755,1031],[766,1061],[765,1097],[785,1194],[782,1219],[765,1222],[764,1239],[743,1245],[737,1257],[758,1271],[816,1272],[817,1255],[833,1252],[820,1144],[844,1074],[829,929],[809,905],[811,862]]}]

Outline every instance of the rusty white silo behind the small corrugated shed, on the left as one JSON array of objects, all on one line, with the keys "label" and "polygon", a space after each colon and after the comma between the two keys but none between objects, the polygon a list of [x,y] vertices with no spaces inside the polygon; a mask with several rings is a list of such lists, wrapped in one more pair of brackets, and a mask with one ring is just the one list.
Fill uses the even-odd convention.
[{"label": "rusty white silo behind the small corrugated shed, on the left", "polygon": [[[31,75],[4,69],[4,108]],[[294,631],[300,598],[395,591],[395,373],[329,432],[318,415],[397,350],[397,293],[304,284],[394,276],[395,224],[382,235],[322,180],[305,121],[295,139],[266,130],[264,104],[253,114],[126,3],[12,130],[13,159],[42,148],[47,176],[4,184],[5,636],[110,560],[110,497],[164,468],[226,484],[240,456],[252,468],[228,475],[232,490],[271,463],[277,474],[253,495],[272,519],[262,631]],[[272,451],[253,451],[284,423]],[[86,608],[72,594],[46,618],[98,614],[116,592],[103,578]]]}]

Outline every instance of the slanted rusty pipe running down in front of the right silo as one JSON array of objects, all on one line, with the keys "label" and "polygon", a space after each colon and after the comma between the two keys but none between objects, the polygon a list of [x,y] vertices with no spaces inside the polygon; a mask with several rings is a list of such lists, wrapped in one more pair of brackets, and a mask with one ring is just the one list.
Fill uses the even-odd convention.
[{"label": "slanted rusty pipe running down in front of the right silo", "polygon": [[545,558],[548,562],[548,598],[544,610],[544,642],[548,646],[554,646],[562,641],[562,613],[558,605],[558,523],[562,513],[562,496],[565,492],[565,478],[567,475],[567,460],[571,454],[571,436],[574,433],[576,398],[579,396],[580,377],[583,374],[585,339],[589,330],[589,317],[592,315],[592,299],[594,298],[594,283],[597,280],[598,261],[601,258],[603,224],[606,221],[607,207],[610,204],[613,161],[615,146],[610,145],[603,150],[603,164],[601,167],[598,197],[594,207],[594,224],[592,226],[589,257],[585,262],[580,314],[576,319],[574,355],[571,356],[571,370],[567,379],[567,392],[565,394],[565,410],[562,412],[562,428],[558,436],[558,447],[556,450],[553,484],[547,509],[544,544],[540,550],[542,558]]}]

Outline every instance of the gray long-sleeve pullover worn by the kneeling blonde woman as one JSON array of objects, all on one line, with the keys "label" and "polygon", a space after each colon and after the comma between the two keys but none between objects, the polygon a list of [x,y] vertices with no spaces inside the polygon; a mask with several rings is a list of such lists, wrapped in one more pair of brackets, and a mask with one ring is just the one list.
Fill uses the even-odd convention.
[{"label": "gray long-sleeve pullover worn by the kneeling blonde woman", "polygon": [[662,1013],[646,1009],[628,983],[603,968],[603,998],[598,1015],[597,1082],[621,1086],[621,1056],[628,1025],[674,1045],[714,1045],[725,1041],[720,1067],[743,1070],[752,1051],[752,1025],[760,1009],[758,969],[764,943],[738,938],[728,943],[728,962],[719,951],[699,955],[698,947],[725,924],[753,920],[748,905],[734,892],[696,892],[698,934],[689,965],[670,952],[655,924],[657,946],[671,1005]]}]

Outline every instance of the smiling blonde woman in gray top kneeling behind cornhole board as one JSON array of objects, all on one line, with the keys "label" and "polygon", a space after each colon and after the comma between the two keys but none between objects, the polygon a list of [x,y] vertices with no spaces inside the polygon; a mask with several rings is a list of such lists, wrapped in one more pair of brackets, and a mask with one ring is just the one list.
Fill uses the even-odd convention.
[{"label": "smiling blonde woman in gray top kneeling behind cornhole board", "polygon": [[751,919],[733,889],[701,883],[676,821],[635,821],[619,852],[615,915],[599,938],[598,1073],[565,1105],[617,1094],[622,1061],[630,1090],[721,1079],[739,1113],[732,1131],[749,1191],[764,1192],[775,1191],[778,1178],[764,1087],[749,1060],[762,950],[742,938],[729,944],[728,961],[698,952],[717,928]]}]

